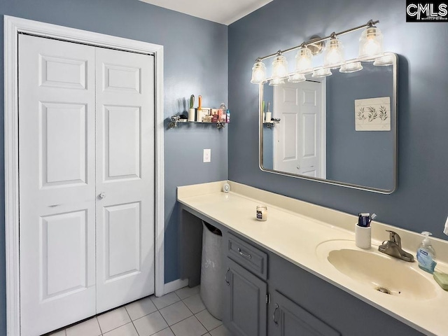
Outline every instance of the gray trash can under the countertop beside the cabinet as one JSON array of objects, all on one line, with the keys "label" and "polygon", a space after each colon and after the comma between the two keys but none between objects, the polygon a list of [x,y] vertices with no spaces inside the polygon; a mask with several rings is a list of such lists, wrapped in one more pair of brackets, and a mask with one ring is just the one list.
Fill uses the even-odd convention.
[{"label": "gray trash can under the countertop beside the cabinet", "polygon": [[221,246],[223,245],[223,233],[204,221],[202,221],[202,228],[200,295],[209,313],[221,320],[223,307]]}]

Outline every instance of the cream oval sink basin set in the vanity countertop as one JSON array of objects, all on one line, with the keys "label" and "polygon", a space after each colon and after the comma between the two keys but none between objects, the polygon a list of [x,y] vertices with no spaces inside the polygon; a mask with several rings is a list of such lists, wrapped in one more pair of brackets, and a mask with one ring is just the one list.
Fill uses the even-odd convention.
[{"label": "cream oval sink basin set in the vanity countertop", "polygon": [[435,283],[416,262],[406,262],[377,251],[357,248],[354,241],[332,240],[319,244],[318,257],[344,276],[364,286],[407,299],[429,300],[437,295]]}]

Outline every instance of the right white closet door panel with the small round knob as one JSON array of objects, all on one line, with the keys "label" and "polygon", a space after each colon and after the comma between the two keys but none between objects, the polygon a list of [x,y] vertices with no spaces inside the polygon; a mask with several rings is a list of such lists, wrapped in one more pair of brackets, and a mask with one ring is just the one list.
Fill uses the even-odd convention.
[{"label": "right white closet door panel with the small round knob", "polygon": [[154,293],[154,60],[96,49],[97,311]]}]

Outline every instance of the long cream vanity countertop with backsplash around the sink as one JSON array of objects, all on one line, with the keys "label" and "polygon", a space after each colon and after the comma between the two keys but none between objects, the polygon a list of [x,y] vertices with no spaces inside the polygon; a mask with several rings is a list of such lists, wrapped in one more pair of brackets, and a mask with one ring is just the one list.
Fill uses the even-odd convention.
[{"label": "long cream vanity countertop with backsplash around the sink", "polygon": [[[221,191],[225,182],[230,183],[230,193]],[[357,216],[232,181],[178,187],[177,200],[426,335],[448,335],[448,291],[437,285],[432,274],[421,271],[417,262],[407,262],[406,266],[416,269],[435,285],[428,299],[379,293],[342,274],[319,255],[318,246],[325,241],[345,240],[348,244],[353,241],[353,249],[358,249],[354,244]],[[255,208],[260,204],[268,208],[265,222],[255,218]],[[372,222],[372,252],[381,241],[388,240],[385,230],[397,232],[402,247],[415,256],[421,235],[377,222]],[[431,241],[437,253],[437,268],[448,273],[448,241]],[[396,262],[405,261],[396,259]]]}]

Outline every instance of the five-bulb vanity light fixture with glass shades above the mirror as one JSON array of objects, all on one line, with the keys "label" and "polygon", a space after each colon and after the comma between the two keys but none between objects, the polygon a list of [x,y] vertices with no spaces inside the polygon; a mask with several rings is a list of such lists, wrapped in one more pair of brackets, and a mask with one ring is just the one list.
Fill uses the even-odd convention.
[{"label": "five-bulb vanity light fixture with glass shades above the mirror", "polygon": [[[295,47],[279,50],[265,57],[259,57],[255,60],[255,64],[253,64],[251,83],[264,84],[269,81],[269,85],[276,86],[283,84],[286,78],[288,78],[289,82],[297,83],[303,81],[304,75],[310,73],[312,73],[313,77],[330,76],[330,69],[337,69],[339,67],[341,68],[339,71],[342,73],[359,71],[363,69],[363,66],[360,64],[361,61],[374,61],[374,65],[391,65],[393,59],[383,57],[383,34],[375,26],[378,22],[378,20],[369,20],[365,25],[339,31],[339,33],[332,32],[326,37],[312,36],[313,38],[309,41],[303,42]],[[348,34],[359,29],[364,30],[359,38],[358,58],[345,61],[344,46],[337,36]],[[328,43],[325,48],[323,66],[313,68],[311,64],[313,55],[318,55],[322,52],[325,41],[328,41]],[[295,69],[292,73],[288,73],[288,62],[283,54],[297,49]],[[262,61],[271,57],[275,57],[274,62],[272,62],[272,77],[266,78],[266,67]]]}]

